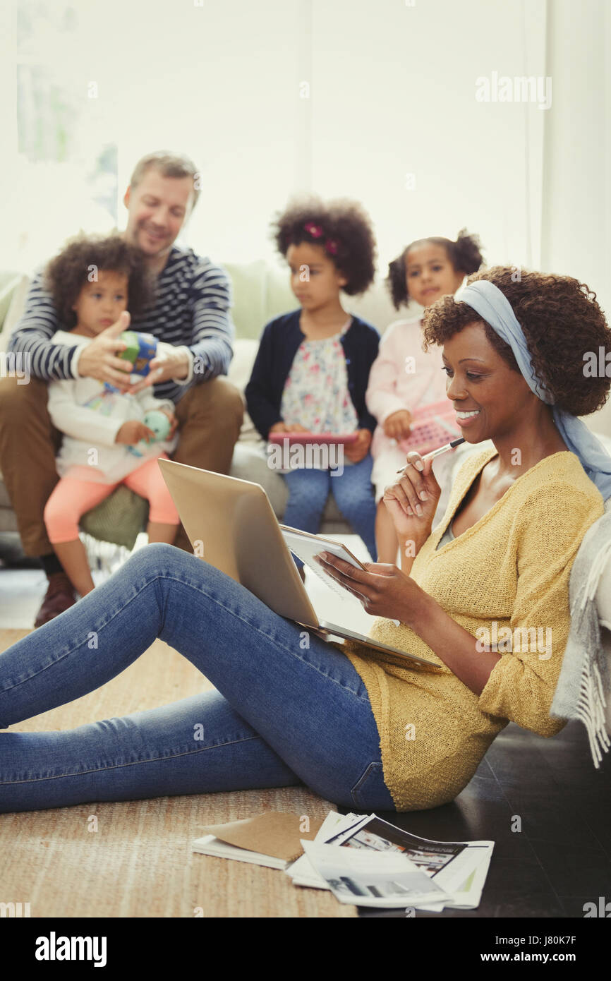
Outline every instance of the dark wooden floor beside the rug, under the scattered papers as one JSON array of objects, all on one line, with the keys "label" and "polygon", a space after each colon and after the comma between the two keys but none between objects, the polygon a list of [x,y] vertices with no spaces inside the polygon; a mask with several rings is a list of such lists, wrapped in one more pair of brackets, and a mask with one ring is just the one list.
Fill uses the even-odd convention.
[{"label": "dark wooden floor beside the rug, under the scattered papers", "polygon": [[[511,830],[514,815],[521,832]],[[585,903],[611,902],[611,752],[596,770],[579,722],[553,739],[510,723],[452,803],[380,816],[425,838],[495,843],[478,909],[419,910],[418,918],[583,918]],[[361,915],[404,918],[405,910]]]}]

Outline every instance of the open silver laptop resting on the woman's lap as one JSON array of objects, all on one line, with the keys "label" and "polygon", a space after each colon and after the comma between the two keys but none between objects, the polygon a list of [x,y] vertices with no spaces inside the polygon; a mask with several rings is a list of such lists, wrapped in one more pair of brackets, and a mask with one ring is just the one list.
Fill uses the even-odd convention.
[{"label": "open silver laptop resting on the woman's lap", "polygon": [[[275,613],[310,628],[323,640],[349,638],[409,661],[438,667],[434,661],[319,620],[270,499],[260,484],[174,460],[160,460],[159,466],[194,554],[225,572]],[[325,550],[326,541],[321,539],[319,550]],[[333,544],[336,546],[336,542]],[[357,563],[358,559],[354,561]],[[318,572],[316,567],[314,571]],[[340,589],[333,580],[331,583]]]}]

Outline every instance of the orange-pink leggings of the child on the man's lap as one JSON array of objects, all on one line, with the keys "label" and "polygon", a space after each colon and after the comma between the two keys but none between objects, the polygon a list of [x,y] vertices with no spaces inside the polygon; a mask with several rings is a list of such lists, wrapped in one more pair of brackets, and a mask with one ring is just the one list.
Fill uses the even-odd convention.
[{"label": "orange-pink leggings of the child on the man's lap", "polygon": [[[147,498],[150,505],[149,521],[178,525],[178,511],[157,466],[158,459],[167,460],[168,456],[161,453],[159,457],[147,460],[117,484],[94,484],[93,481],[76,477],[62,477],[44,509],[44,523],[49,541],[74,542],[78,538],[80,516],[103,501],[120,484],[125,484],[129,490],[135,490],[140,496]],[[84,467],[79,470],[79,473],[82,472],[85,472]]]}]

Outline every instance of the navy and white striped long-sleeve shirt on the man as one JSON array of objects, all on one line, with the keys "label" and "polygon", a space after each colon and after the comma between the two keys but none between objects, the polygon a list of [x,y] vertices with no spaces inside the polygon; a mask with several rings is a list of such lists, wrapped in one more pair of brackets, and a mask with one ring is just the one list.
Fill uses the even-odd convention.
[{"label": "navy and white striped long-sleeve shirt on the man", "polygon": [[[77,378],[80,348],[53,343],[64,329],[53,297],[42,285],[43,274],[32,279],[9,350],[29,355],[29,371],[44,381]],[[130,330],[143,331],[189,352],[186,379],[154,387],[158,398],[178,399],[194,383],[227,375],[233,355],[235,328],[229,314],[231,285],[227,273],[192,249],[173,246],[157,280],[155,305],[133,317]]]}]

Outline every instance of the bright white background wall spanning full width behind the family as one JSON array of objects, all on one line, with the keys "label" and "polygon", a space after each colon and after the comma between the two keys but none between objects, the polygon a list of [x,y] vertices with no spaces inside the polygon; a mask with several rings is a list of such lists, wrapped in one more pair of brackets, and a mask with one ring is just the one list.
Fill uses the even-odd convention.
[{"label": "bright white background wall spanning full width behind the family", "polygon": [[[272,256],[272,215],[312,189],[363,202],[381,276],[410,240],[467,226],[488,263],[577,276],[611,310],[607,0],[32,0],[18,44],[25,2],[0,5],[0,266],[111,227],[87,182],[104,145],[119,200],[165,147],[203,177],[184,240],[220,261]],[[70,104],[64,163],[18,156],[18,64]],[[551,77],[551,108],[478,101],[494,73]]]}]

